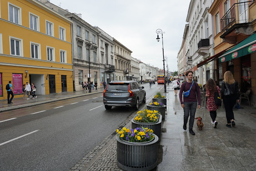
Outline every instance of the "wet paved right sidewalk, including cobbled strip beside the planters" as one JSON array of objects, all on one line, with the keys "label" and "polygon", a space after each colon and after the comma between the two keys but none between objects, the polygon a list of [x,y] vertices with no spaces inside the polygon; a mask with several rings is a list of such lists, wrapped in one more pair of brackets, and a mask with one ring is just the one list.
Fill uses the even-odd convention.
[{"label": "wet paved right sidewalk, including cobbled strip beside the planters", "polygon": [[[174,91],[167,86],[167,114],[158,143],[158,166],[153,171],[255,171],[256,109],[234,111],[236,127],[226,127],[225,109],[217,110],[217,128],[213,128],[207,109],[197,109],[204,127],[195,136],[184,131],[183,109]],[[129,117],[123,126],[131,128]],[[188,126],[188,125],[187,125]],[[122,171],[116,165],[115,130],[69,171]]]}]

